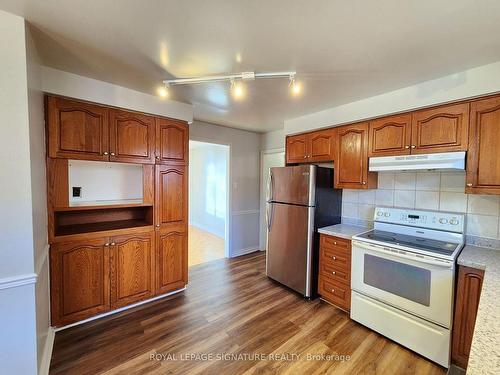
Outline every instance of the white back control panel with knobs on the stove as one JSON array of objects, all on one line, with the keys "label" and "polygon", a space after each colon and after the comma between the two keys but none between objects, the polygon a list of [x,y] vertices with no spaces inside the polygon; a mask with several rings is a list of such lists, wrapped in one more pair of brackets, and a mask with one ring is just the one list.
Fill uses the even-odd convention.
[{"label": "white back control panel with knobs on the stove", "polygon": [[408,225],[448,232],[464,232],[464,215],[452,212],[420,211],[405,208],[377,207],[377,222]]}]

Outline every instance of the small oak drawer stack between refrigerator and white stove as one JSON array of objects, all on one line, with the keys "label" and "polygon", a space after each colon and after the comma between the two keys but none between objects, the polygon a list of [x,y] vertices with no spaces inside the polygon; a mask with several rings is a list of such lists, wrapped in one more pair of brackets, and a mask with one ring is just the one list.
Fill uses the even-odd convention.
[{"label": "small oak drawer stack between refrigerator and white stove", "polygon": [[318,292],[324,300],[351,309],[351,241],[321,234]]}]

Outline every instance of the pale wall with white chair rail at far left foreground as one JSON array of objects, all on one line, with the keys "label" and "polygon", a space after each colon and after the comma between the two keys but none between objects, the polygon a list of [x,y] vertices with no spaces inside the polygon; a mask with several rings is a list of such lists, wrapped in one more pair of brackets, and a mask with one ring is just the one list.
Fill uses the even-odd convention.
[{"label": "pale wall with white chair rail at far left foreground", "polygon": [[33,236],[25,23],[2,11],[0,68],[0,364],[2,373],[34,374],[33,247],[43,241]]}]

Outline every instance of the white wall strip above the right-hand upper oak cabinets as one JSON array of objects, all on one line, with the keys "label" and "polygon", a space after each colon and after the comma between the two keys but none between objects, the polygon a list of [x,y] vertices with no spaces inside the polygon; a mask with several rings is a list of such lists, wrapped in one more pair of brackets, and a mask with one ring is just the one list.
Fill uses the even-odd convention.
[{"label": "white wall strip above the right-hand upper oak cabinets", "polygon": [[285,120],[284,133],[341,125],[500,91],[500,62]]}]

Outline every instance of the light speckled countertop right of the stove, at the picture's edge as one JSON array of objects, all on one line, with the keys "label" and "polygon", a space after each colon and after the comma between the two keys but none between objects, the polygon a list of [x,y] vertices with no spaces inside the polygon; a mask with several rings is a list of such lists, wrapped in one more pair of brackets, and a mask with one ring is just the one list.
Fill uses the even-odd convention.
[{"label": "light speckled countertop right of the stove, at the picture's edge", "polygon": [[458,264],[484,270],[467,374],[500,374],[500,250],[465,246]]}]

